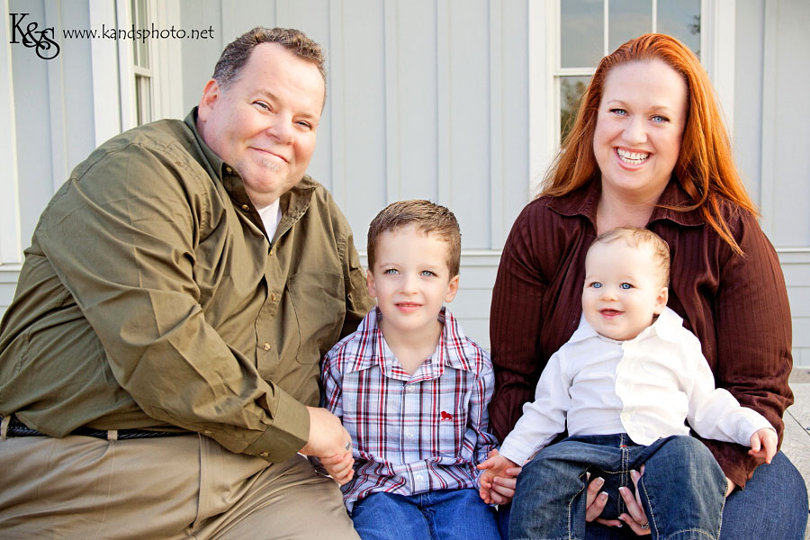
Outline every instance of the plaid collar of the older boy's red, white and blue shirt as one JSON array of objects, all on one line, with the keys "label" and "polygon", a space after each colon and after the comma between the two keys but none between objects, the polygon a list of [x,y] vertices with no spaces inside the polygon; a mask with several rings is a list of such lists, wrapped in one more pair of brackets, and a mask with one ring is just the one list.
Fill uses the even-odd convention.
[{"label": "plaid collar of the older boy's red, white and blue shirt", "polygon": [[439,335],[436,350],[429,357],[429,362],[420,365],[413,375],[405,372],[399,363],[394,363],[392,350],[385,342],[383,330],[380,329],[382,319],[382,311],[379,307],[375,307],[374,310],[368,312],[360,326],[357,327],[356,335],[362,339],[363,343],[358,354],[347,362],[347,373],[363,371],[378,365],[385,376],[409,383],[440,377],[444,373],[445,367],[475,373],[476,359],[464,354],[464,351],[468,350],[467,337],[464,335],[461,325],[445,306],[442,306],[437,317],[437,320],[442,323],[442,333]]}]

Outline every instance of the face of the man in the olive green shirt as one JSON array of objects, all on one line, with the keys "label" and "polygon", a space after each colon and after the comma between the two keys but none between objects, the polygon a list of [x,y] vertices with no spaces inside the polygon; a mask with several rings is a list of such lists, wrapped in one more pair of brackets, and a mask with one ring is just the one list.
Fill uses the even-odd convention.
[{"label": "face of the man in the olive green shirt", "polygon": [[257,208],[301,181],[315,149],[325,86],[318,67],[277,43],[257,45],[237,79],[211,79],[197,111],[202,139],[242,176]]}]

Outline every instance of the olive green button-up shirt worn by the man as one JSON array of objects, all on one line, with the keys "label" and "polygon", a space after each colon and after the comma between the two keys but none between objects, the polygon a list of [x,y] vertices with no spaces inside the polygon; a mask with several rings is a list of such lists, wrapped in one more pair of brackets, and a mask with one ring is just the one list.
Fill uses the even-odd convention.
[{"label": "olive green button-up shirt worn by the man", "polygon": [[304,176],[272,241],[194,125],[97,148],[49,202],[0,324],[0,414],[184,428],[282,461],[309,437],[320,358],[373,305],[346,218]]}]

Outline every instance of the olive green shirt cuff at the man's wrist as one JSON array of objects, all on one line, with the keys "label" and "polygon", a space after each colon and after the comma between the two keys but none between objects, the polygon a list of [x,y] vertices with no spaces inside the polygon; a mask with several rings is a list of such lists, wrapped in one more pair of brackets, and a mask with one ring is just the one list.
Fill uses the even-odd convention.
[{"label": "olive green shirt cuff at the man's wrist", "polygon": [[297,454],[310,438],[310,413],[300,401],[278,392],[273,424],[243,454],[257,455],[272,463],[284,462]]}]

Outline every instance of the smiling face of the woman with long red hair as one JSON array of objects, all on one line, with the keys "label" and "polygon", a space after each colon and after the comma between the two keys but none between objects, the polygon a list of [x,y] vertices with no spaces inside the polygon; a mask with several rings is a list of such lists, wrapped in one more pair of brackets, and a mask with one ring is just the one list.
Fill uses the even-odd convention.
[{"label": "smiling face of the woman with long red hair", "polygon": [[678,160],[687,112],[686,83],[661,60],[613,67],[593,134],[602,192],[657,202]]}]

